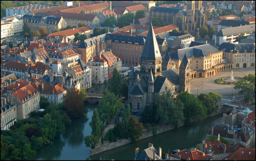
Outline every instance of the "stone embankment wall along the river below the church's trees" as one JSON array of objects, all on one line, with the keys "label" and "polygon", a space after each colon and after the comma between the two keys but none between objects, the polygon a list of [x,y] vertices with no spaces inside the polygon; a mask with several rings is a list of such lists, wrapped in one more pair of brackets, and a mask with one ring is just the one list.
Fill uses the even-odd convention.
[{"label": "stone embankment wall along the river below the church's trees", "polygon": [[[206,116],[206,118],[222,114],[223,112],[226,112],[224,110],[225,109],[223,108],[223,105],[221,105],[217,112],[214,112],[209,116]],[[192,121],[192,122],[196,122],[196,121]],[[184,123],[181,126],[184,126]],[[181,126],[179,126],[179,127],[181,127]],[[111,127],[113,128],[113,126],[111,126]],[[174,127],[172,125],[160,125],[160,126],[157,126],[156,128],[157,128],[157,134],[174,129]],[[110,128],[108,128],[108,129],[110,129]],[[142,135],[140,136],[140,138],[138,140],[142,140],[142,139],[152,137],[152,136],[153,136],[152,130],[147,131],[146,129],[143,129]],[[103,145],[101,145],[101,143],[99,141],[99,143],[97,144],[97,146],[94,149],[92,149],[92,148],[90,149],[90,156],[104,152],[104,151],[108,151],[108,150],[111,150],[111,149],[114,149],[114,148],[117,148],[117,147],[120,147],[120,146],[123,146],[126,144],[130,144],[130,143],[132,143],[131,137],[129,139],[117,139],[116,142],[104,141]]]}]

